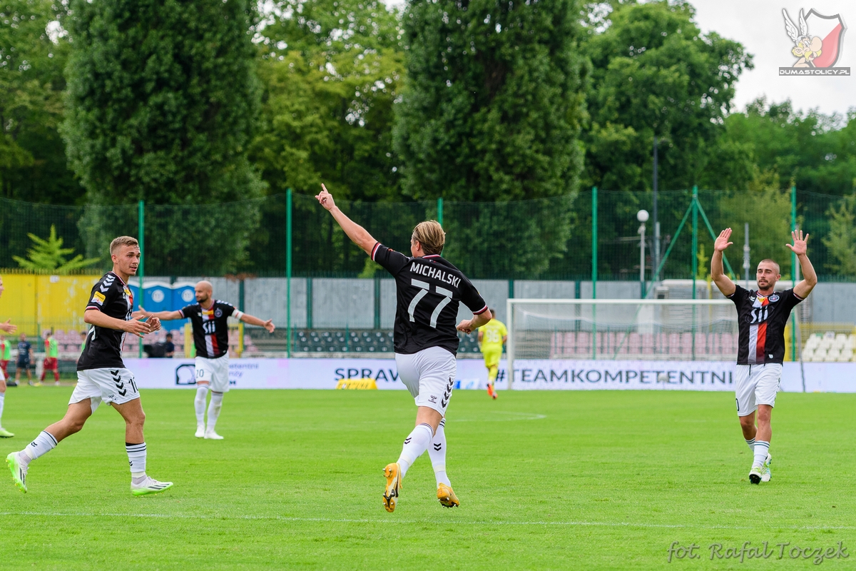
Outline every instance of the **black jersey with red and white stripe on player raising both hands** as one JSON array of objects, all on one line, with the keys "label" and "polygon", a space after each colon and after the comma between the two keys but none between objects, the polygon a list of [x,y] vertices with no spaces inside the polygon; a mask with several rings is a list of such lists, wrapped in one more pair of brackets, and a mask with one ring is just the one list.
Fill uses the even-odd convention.
[{"label": "black jersey with red and white stripe on player raising both hands", "polygon": [[793,289],[764,296],[736,283],[728,296],[737,306],[737,364],[782,363],[785,360],[785,325],[791,310],[802,301]]}]

